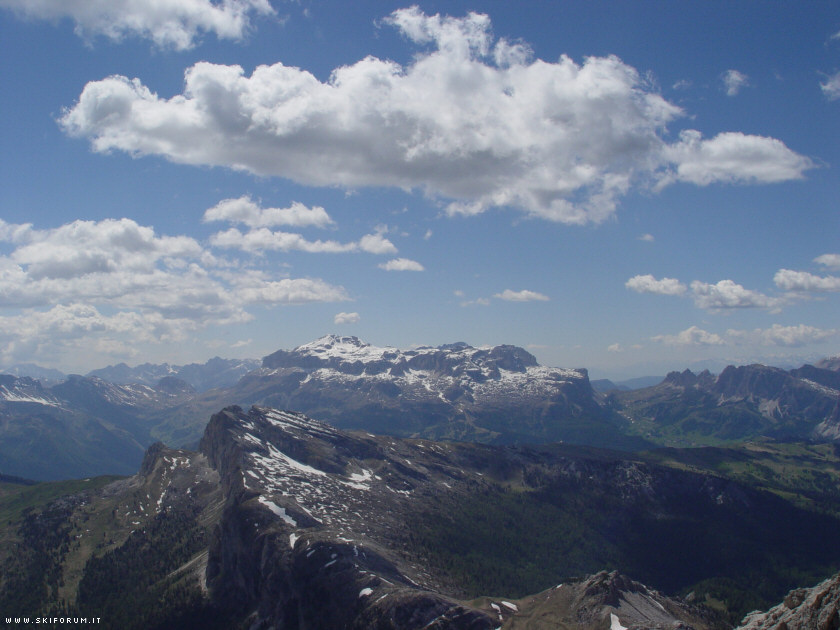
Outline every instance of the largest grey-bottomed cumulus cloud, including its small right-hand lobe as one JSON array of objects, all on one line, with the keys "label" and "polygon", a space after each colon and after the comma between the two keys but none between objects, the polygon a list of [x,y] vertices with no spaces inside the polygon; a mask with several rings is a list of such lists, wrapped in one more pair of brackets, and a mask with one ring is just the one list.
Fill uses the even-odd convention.
[{"label": "largest grey-bottomed cumulus cloud, including its small right-hand lobe", "polygon": [[282,63],[197,63],[180,95],[139,79],[88,83],[60,124],[95,151],[157,155],[315,186],[396,186],[449,214],[515,207],[597,223],[634,186],[777,182],[812,164],[773,138],[684,132],[683,116],[619,58],[533,59],[489,18],[401,9],[384,23],[423,48],[405,66],[365,57],[327,81]]}]

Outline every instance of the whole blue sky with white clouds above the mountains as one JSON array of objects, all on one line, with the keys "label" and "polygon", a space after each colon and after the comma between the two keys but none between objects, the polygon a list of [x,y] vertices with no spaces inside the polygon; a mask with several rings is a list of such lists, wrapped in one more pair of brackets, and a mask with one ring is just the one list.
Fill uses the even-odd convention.
[{"label": "whole blue sky with white clouds above the mountains", "polygon": [[0,366],[840,355],[840,5],[0,0]]}]

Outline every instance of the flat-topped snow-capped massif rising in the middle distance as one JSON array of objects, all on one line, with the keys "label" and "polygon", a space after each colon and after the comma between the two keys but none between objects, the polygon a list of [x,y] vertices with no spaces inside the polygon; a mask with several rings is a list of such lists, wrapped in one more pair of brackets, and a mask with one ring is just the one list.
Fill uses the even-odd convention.
[{"label": "flat-topped snow-capped massif rising in the middle distance", "polygon": [[509,345],[399,350],[328,335],[268,355],[230,399],[400,436],[632,442],[621,436],[621,419],[599,405],[586,370],[540,366],[526,350]]}]

